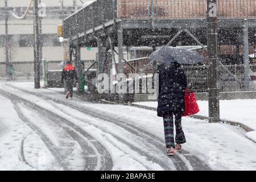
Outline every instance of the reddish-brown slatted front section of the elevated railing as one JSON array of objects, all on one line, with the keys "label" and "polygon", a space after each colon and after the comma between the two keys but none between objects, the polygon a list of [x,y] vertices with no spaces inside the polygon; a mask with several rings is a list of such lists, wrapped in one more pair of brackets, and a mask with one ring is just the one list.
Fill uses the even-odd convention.
[{"label": "reddish-brown slatted front section of the elevated railing", "polygon": [[[118,0],[118,18],[205,18],[205,0]],[[255,18],[255,0],[218,0],[220,18]]]}]

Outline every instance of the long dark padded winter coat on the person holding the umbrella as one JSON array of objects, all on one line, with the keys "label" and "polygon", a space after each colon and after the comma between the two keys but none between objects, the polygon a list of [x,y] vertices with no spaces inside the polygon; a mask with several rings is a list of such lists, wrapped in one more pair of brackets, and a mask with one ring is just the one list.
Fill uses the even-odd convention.
[{"label": "long dark padded winter coat on the person holding the umbrella", "polygon": [[165,59],[158,65],[158,73],[158,116],[183,113],[184,89],[188,86],[184,70],[180,64]]}]

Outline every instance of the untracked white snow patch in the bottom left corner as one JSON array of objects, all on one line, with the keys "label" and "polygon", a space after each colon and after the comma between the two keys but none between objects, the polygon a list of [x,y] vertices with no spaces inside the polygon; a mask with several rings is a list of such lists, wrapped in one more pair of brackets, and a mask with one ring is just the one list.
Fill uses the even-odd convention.
[{"label": "untracked white snow patch in the bottom left corner", "polygon": [[[34,146],[30,146],[28,153],[36,153],[40,148],[40,154],[47,155],[49,163],[55,163],[51,156],[51,153],[47,150],[40,138],[36,137],[36,134],[32,132],[24,122],[20,120],[14,105],[10,100],[0,96],[0,170],[34,170],[34,166],[28,166],[22,160],[22,141],[24,140],[24,146],[28,147],[29,143],[34,143]],[[28,135],[34,137],[27,137]],[[33,164],[40,162],[40,155],[26,155],[26,160],[32,161]],[[42,158],[41,158],[42,159]],[[39,169],[49,169],[47,163]]]}]

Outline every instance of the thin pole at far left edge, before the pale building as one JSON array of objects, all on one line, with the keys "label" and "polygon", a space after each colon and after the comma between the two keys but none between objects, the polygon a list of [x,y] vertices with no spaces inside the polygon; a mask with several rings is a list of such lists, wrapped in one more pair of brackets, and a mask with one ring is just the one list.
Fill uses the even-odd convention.
[{"label": "thin pole at far left edge, before the pale building", "polygon": [[8,19],[9,19],[9,9],[7,6],[7,0],[5,0],[5,66],[6,66],[6,76],[8,76],[7,69],[9,67],[9,35],[8,35]]}]

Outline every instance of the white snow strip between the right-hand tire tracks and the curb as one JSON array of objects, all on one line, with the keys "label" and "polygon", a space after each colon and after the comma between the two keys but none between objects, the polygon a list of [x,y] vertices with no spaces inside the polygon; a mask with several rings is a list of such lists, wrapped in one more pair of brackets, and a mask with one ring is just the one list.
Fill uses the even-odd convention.
[{"label": "white snow strip between the right-hand tire tracks and the curb", "polygon": [[[84,104],[101,112],[106,105]],[[162,118],[156,112],[130,106],[108,105],[108,113],[129,120],[133,125],[164,138]],[[122,114],[119,114],[122,113]],[[131,114],[132,113],[132,114]],[[246,155],[254,155],[256,144],[241,134],[231,130],[229,126],[219,123],[208,123],[200,119],[184,118],[184,132],[187,137],[185,150],[198,156],[214,169],[256,169],[256,156],[253,160]],[[252,148],[251,148],[252,147]]]}]

